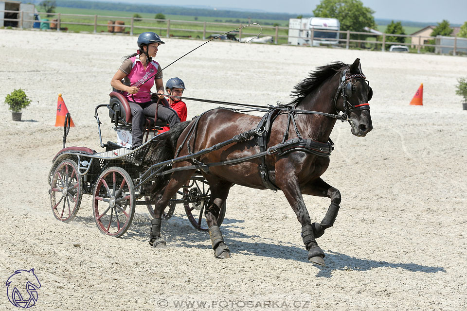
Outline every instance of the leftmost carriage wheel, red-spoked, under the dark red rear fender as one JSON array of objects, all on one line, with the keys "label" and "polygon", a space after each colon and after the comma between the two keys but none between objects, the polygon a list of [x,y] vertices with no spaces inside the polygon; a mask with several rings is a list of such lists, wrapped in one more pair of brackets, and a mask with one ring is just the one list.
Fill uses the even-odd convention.
[{"label": "leftmost carriage wheel, red-spoked, under the dark red rear fender", "polygon": [[78,172],[76,162],[67,159],[58,164],[52,177],[49,191],[52,213],[64,223],[76,216],[83,196],[83,180]]}]

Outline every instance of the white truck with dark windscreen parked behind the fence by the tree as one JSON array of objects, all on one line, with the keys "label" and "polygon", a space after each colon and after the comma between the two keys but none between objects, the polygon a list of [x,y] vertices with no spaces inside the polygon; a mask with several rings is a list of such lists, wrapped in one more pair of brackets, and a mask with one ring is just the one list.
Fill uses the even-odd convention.
[{"label": "white truck with dark windscreen parked behind the fence by the tree", "polygon": [[[336,18],[290,18],[288,43],[292,45],[338,45],[341,23]],[[332,32],[327,32],[331,30]]]}]

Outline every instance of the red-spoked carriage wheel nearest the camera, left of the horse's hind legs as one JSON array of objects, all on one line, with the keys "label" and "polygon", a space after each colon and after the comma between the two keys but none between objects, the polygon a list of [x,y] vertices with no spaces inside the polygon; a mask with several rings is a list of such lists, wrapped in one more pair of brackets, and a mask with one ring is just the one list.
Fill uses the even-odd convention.
[{"label": "red-spoked carriage wheel nearest the camera, left of the horse's hind legs", "polygon": [[135,215],[135,190],[130,175],[120,167],[110,167],[97,179],[92,212],[102,233],[120,237]]}]

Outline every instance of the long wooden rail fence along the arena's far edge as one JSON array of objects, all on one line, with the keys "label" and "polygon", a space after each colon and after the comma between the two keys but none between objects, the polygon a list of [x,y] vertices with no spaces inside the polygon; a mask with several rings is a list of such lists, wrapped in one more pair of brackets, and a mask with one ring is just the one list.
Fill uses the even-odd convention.
[{"label": "long wooden rail fence along the arena's far edge", "polygon": [[[223,34],[231,29],[245,26],[238,23],[218,23],[218,22],[202,22],[202,21],[186,21],[186,20],[171,20],[171,19],[154,19],[154,18],[143,18],[143,17],[121,17],[121,16],[101,16],[101,15],[80,15],[80,14],[48,14],[48,13],[37,13],[41,20],[29,19],[34,16],[34,12],[23,12],[23,11],[0,11],[4,13],[16,13],[17,18],[0,18],[3,22],[9,22],[15,24],[17,28],[25,28],[25,24],[28,26],[31,22],[40,22],[41,24],[49,24],[56,31],[70,30],[75,31],[78,29],[76,25],[79,25],[79,29],[82,30],[82,26],[87,26],[89,32],[115,32],[126,33],[129,35],[140,34],[145,31],[156,31],[159,35],[166,37],[194,37],[199,39],[209,38],[210,35]],[[11,14],[10,14],[11,15]],[[0,15],[0,17],[3,16]],[[29,18],[28,18],[29,17]],[[41,18],[41,17],[48,17]],[[52,18],[53,17],[53,18]],[[119,24],[110,24],[110,22],[120,22]],[[64,27],[68,26],[68,27]],[[290,37],[299,38],[297,36],[289,36],[288,27],[280,26],[261,26],[262,33],[260,37],[270,36],[271,43],[274,44],[287,44]],[[127,30],[125,32],[125,30]],[[300,31],[306,31],[301,29]],[[313,42],[315,29],[310,29],[310,42]],[[453,45],[440,45],[430,44],[430,40],[436,39],[431,36],[416,36],[415,43],[413,42],[414,36],[412,35],[395,35],[395,34],[375,34],[367,32],[352,32],[352,31],[334,31],[334,30],[323,30],[319,29],[320,32],[339,33],[339,46],[349,48],[362,48],[371,50],[385,51],[389,45],[404,45],[412,47],[413,51],[416,49],[417,52],[433,52],[442,51],[441,48],[451,48],[449,53],[456,54],[467,54],[467,49],[457,48],[457,36],[454,36]],[[236,39],[241,40],[242,38],[249,36],[256,36],[260,33],[260,28],[257,26],[251,26],[249,28],[243,28],[235,32]],[[388,41],[388,37],[403,37],[405,42],[393,42]],[[411,38],[410,42],[408,38]],[[418,39],[418,40],[417,40]],[[463,39],[461,39],[463,40]],[[445,49],[446,50],[446,49]]]}]

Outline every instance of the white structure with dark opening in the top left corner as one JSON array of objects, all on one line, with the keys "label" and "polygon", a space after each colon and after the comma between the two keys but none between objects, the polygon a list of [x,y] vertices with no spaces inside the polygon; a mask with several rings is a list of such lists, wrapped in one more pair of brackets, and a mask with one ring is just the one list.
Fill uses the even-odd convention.
[{"label": "white structure with dark opening in the top left corner", "polygon": [[[4,12],[16,11],[16,12]],[[0,1],[0,27],[19,27],[20,22],[5,19],[20,19],[23,11],[23,28],[33,28],[34,14],[37,13],[36,6],[31,3],[21,3],[21,1]]]}]

